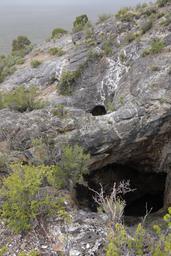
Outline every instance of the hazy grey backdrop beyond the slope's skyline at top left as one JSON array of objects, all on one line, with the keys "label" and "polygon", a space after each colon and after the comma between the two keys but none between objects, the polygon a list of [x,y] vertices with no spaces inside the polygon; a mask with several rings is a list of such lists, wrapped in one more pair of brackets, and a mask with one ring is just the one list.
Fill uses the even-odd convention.
[{"label": "hazy grey backdrop beyond the slope's skyline at top left", "polygon": [[151,0],[0,0],[0,54],[8,52],[18,35],[33,43],[50,36],[55,27],[72,29],[76,16],[86,13],[92,22],[99,14],[116,13],[124,6]]}]

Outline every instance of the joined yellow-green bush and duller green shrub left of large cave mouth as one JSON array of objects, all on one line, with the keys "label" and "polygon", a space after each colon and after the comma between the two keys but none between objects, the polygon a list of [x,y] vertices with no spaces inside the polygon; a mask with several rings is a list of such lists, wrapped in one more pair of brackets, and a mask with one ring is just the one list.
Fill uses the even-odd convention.
[{"label": "joined yellow-green bush and duller green shrub left of large cave mouth", "polygon": [[58,192],[62,188],[73,189],[76,183],[84,183],[83,175],[88,173],[89,158],[76,145],[63,147],[58,165],[12,164],[12,172],[3,180],[0,189],[1,218],[15,233],[30,230],[35,221],[51,214],[69,218],[64,198]]}]

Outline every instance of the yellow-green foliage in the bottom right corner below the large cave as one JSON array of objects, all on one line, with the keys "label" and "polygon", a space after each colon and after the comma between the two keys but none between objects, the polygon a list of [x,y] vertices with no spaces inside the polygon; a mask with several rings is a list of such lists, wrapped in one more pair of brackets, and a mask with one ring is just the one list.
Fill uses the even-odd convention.
[{"label": "yellow-green foliage in the bottom right corner below the large cave", "polygon": [[106,256],[119,255],[161,255],[168,256],[171,251],[171,208],[164,216],[167,226],[164,230],[159,225],[148,231],[139,224],[134,234],[129,234],[123,224],[117,223],[109,232]]}]

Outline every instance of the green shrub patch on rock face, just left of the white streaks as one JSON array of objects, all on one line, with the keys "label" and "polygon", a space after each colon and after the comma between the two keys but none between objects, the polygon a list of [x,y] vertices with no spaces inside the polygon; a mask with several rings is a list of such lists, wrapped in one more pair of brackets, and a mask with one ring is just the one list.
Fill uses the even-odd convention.
[{"label": "green shrub patch on rock face, just left of the white streaks", "polygon": [[63,71],[58,84],[58,90],[61,95],[71,95],[74,89],[74,84],[81,75],[81,70]]}]

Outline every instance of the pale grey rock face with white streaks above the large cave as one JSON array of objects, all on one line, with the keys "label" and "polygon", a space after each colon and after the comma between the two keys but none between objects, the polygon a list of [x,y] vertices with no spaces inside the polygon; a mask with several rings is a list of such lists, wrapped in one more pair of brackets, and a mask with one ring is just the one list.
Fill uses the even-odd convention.
[{"label": "pale grey rock face with white streaks above the large cave", "polygon": [[[171,5],[156,12],[156,15],[170,13]],[[170,25],[161,25],[164,17],[158,15],[150,30],[128,41],[131,33],[141,32],[146,18],[145,14],[131,21],[111,17],[93,28],[89,41],[82,32],[74,35],[75,44],[72,36],[67,35],[37,46],[27,56],[26,63],[0,85],[0,90],[35,84],[41,90],[40,97],[49,104],[28,113],[0,110],[1,153],[8,154],[11,161],[34,163],[38,159],[32,141],[43,138],[47,147],[53,141],[43,161],[56,163],[62,144],[80,144],[91,154],[91,171],[120,164],[141,173],[168,174],[164,199],[164,206],[168,207],[171,204],[171,30]],[[143,56],[154,38],[163,40],[165,47]],[[110,54],[105,53],[104,43],[110,45]],[[49,48],[59,46],[63,46],[64,56],[48,55]],[[29,64],[32,58],[44,62],[33,70]],[[58,84],[63,71],[73,72],[80,67],[72,95],[60,95]],[[52,114],[59,104],[67,111],[64,118]]]}]

